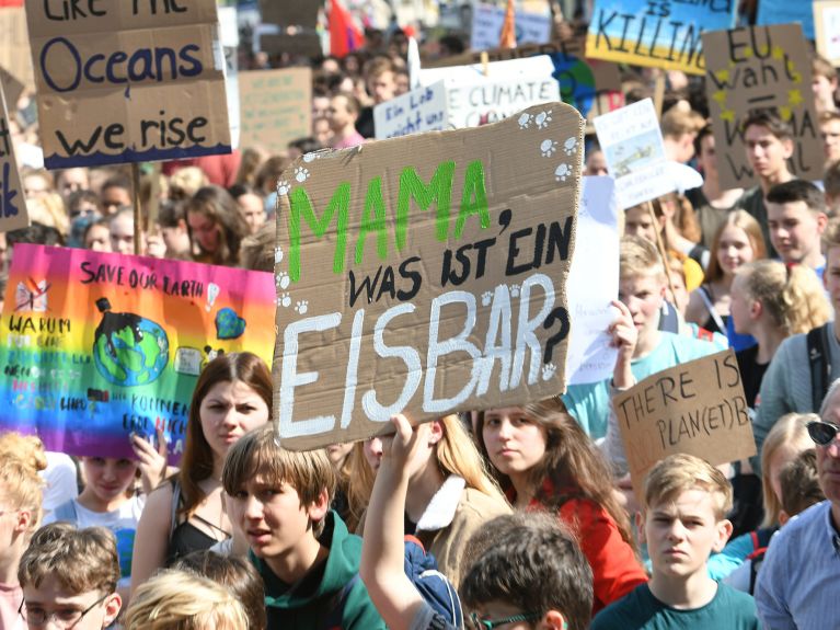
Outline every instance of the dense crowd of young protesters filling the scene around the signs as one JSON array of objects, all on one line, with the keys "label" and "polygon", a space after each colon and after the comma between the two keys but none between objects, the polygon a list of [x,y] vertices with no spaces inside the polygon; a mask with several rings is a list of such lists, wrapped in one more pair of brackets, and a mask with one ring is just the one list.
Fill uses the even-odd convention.
[{"label": "dense crowd of young protesters filling the scene around the signs", "polygon": [[[367,41],[304,60],[311,136],[286,151],[143,164],[158,211],[139,243],[130,171],[44,170],[37,125],[13,112],[32,226],[0,233],[2,293],[22,242],[273,272],[280,174],[369,141],[372,107],[409,90],[404,33]],[[741,121],[749,190],[721,186],[702,78],[667,73],[665,147],[703,185],[621,213],[611,378],[296,453],[275,439],[269,367],[225,354],[197,379],[177,468],[162,434],[127,436],[134,459],[0,435],[0,629],[840,625],[840,111],[835,68],[815,54],[813,71],[824,172],[796,179],[794,129],[758,108]],[[626,103],[653,95],[653,72],[622,72]],[[584,174],[606,172],[587,137]],[[727,347],[758,455],[674,455],[634,486],[612,397]]]}]

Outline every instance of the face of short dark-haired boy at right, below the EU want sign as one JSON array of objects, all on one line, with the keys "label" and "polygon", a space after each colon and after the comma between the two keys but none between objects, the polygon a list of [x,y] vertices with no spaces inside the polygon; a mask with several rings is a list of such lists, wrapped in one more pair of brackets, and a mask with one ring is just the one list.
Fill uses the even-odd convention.
[{"label": "face of short dark-haired boy at right, below the EU want sign", "polygon": [[770,242],[785,263],[801,263],[819,252],[825,215],[808,209],[805,202],[767,203]]}]

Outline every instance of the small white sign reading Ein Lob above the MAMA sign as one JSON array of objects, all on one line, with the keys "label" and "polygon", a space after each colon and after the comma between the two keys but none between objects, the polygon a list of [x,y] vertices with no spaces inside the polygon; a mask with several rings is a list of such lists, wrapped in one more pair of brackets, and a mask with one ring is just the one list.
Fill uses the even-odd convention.
[{"label": "small white sign reading Ein Lob above the MAMA sign", "polygon": [[373,107],[373,127],[378,139],[399,138],[423,131],[448,128],[444,81],[412,90]]}]

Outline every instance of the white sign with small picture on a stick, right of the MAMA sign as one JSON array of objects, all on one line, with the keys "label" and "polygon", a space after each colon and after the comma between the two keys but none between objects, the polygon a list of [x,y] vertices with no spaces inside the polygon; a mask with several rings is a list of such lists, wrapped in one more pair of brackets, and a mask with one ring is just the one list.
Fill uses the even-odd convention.
[{"label": "white sign with small picture on a stick, right of the MAMA sign", "polygon": [[607,172],[615,179],[621,209],[674,190],[659,121],[651,99],[595,118]]}]

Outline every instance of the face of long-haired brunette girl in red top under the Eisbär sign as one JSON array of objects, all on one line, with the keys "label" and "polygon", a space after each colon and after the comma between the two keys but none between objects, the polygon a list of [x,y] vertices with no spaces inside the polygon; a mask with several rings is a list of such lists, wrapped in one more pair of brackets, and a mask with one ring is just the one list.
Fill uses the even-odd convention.
[{"label": "face of long-haired brunette girl in red top under the Eisb\u00e4r sign", "polygon": [[493,466],[515,485],[545,456],[545,428],[528,417],[521,406],[484,412],[482,439]]}]

